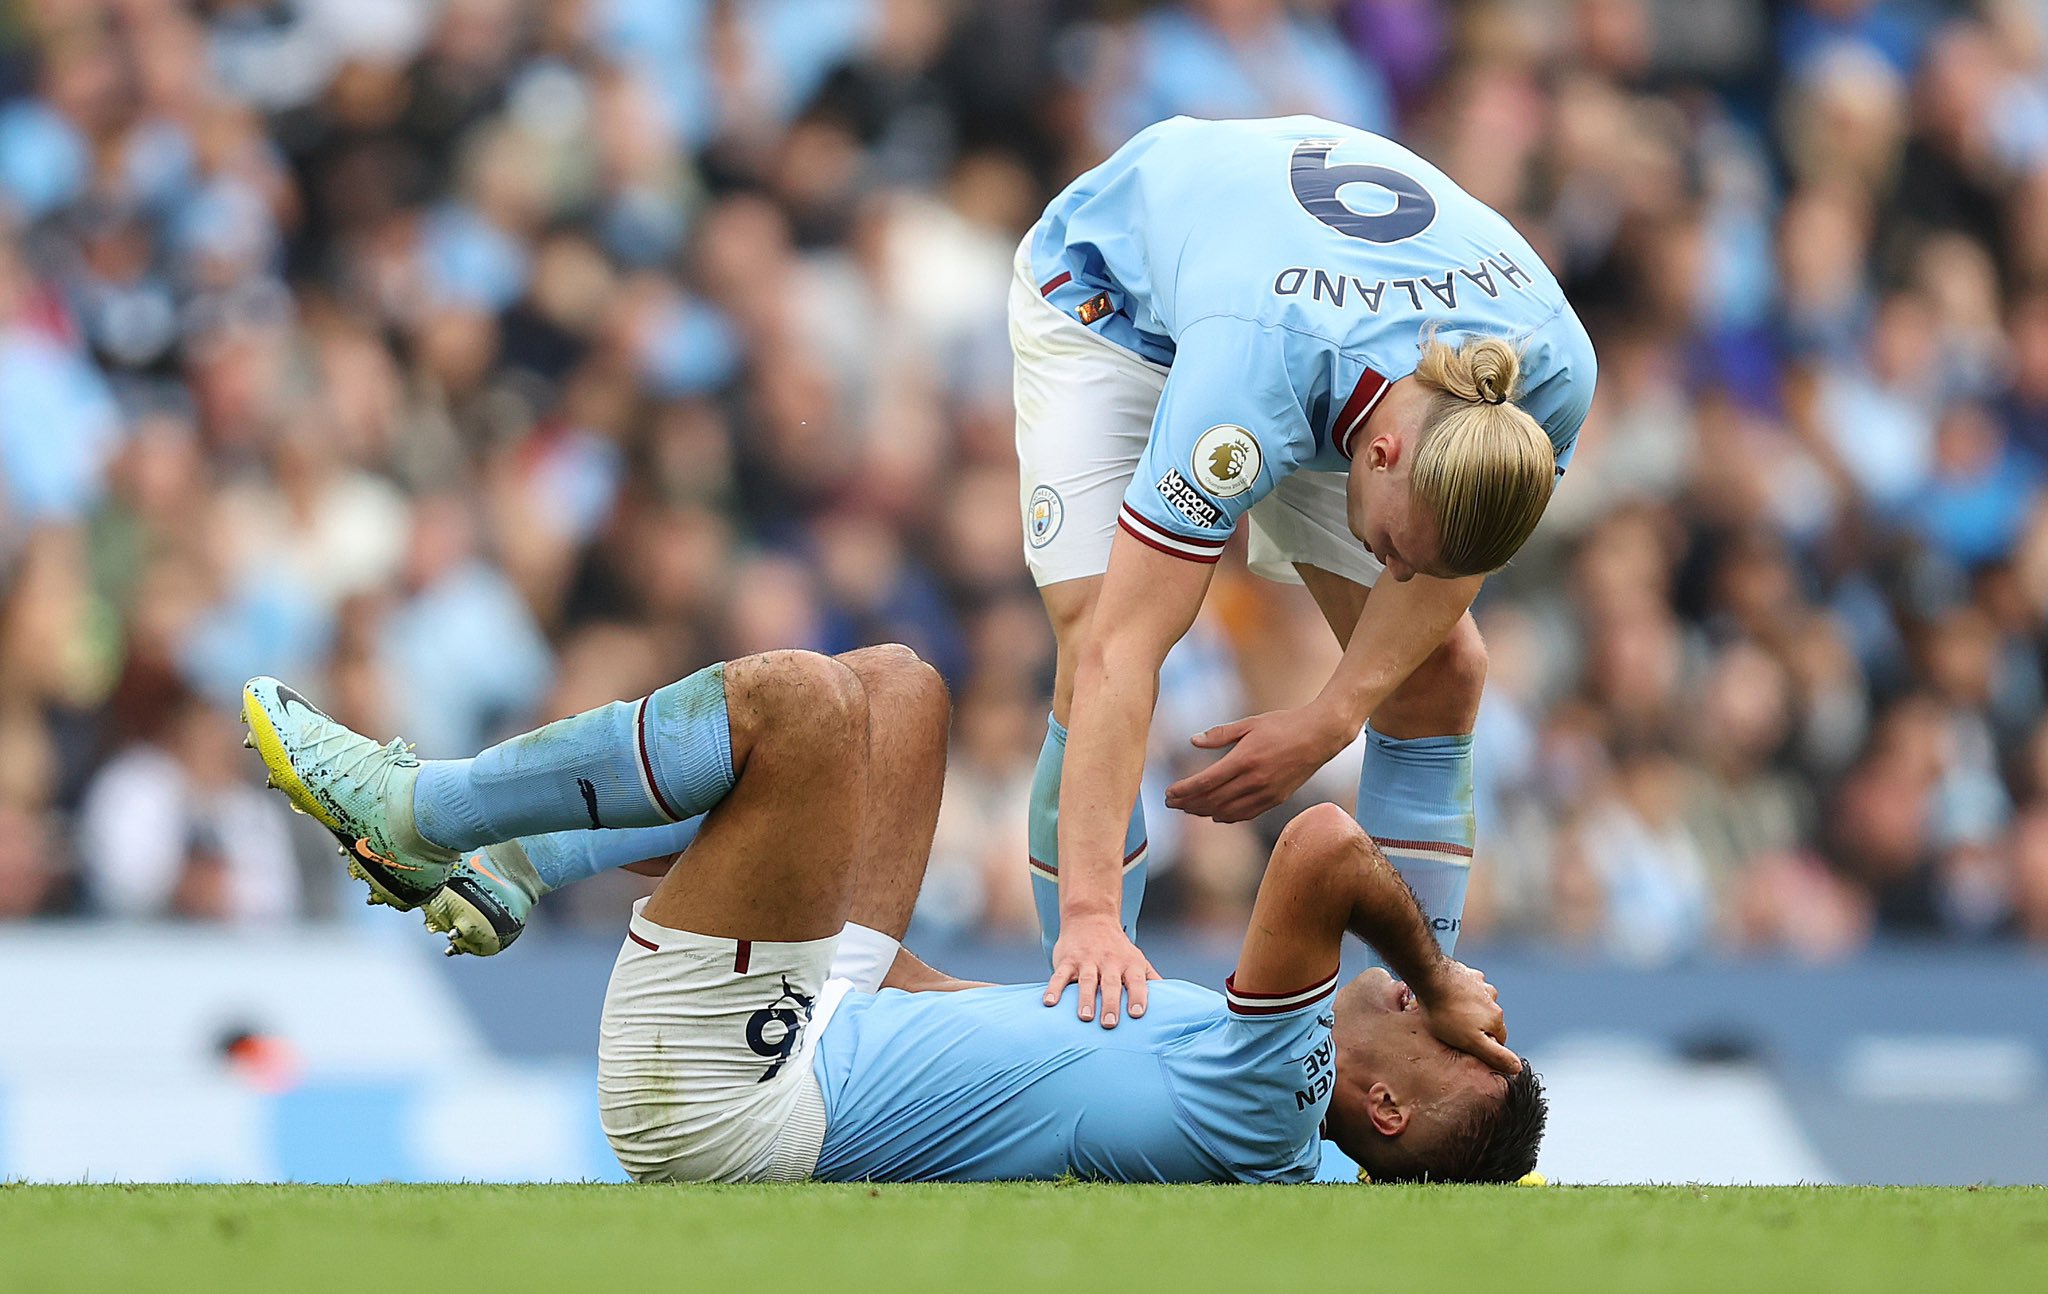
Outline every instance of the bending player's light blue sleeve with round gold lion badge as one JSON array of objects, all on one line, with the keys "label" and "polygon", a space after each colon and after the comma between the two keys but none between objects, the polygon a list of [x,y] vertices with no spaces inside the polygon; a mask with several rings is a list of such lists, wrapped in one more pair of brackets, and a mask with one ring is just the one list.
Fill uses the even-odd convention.
[{"label": "bending player's light blue sleeve with round gold lion badge", "polygon": [[1188,561],[1217,561],[1237,518],[1315,452],[1292,334],[1212,315],[1176,338],[1151,440],[1116,524]]}]

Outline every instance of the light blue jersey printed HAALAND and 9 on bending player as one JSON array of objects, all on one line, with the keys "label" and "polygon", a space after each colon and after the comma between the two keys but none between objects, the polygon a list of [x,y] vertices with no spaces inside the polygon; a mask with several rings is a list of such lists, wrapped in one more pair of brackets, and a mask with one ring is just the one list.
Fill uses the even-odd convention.
[{"label": "light blue jersey printed HAALAND and 9 on bending player", "polygon": [[1167,364],[1120,522],[1214,561],[1292,471],[1346,471],[1350,436],[1421,338],[1522,346],[1516,403],[1559,471],[1593,399],[1593,344],[1491,207],[1393,139],[1323,121],[1149,127],[1032,231],[1047,301]]}]

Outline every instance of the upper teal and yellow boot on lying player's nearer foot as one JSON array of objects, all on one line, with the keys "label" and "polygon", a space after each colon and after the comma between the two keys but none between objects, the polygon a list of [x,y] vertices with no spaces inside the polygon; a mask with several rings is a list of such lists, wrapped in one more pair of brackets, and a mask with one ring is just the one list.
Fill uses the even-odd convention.
[{"label": "upper teal and yellow boot on lying player's nearer foot", "polygon": [[244,745],[262,756],[270,786],[334,831],[348,874],[369,885],[371,903],[420,907],[455,872],[461,856],[414,827],[420,760],[410,745],[377,745],[274,678],[244,684],[242,723],[250,729]]}]

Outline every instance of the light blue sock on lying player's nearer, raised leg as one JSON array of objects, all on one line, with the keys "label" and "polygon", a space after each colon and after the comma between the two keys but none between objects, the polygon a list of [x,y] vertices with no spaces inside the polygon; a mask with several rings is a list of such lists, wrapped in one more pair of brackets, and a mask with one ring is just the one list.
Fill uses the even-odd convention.
[{"label": "light blue sock on lying player's nearer, raised leg", "polygon": [[500,741],[475,760],[430,760],[412,805],[420,835],[477,850],[578,827],[659,827],[733,788],[725,665],[637,702],[614,700]]}]

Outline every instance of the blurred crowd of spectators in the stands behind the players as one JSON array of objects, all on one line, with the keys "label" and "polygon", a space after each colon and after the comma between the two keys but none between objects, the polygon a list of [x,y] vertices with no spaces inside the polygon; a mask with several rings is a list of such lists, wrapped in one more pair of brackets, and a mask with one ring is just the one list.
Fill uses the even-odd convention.
[{"label": "blurred crowd of spectators in the stands behind the players", "polygon": [[[952,686],[920,919],[1030,928],[1051,635],[1004,291],[1176,113],[1319,113],[1507,213],[1602,356],[1481,600],[1468,940],[2048,942],[2044,0],[23,0],[0,18],[0,919],[332,919],[238,684],[467,753],[717,657]],[[1335,659],[1231,559],[1167,815]],[[1202,756],[1206,758],[1206,756]],[[1348,801],[1356,756],[1305,792]],[[612,928],[631,876],[545,905]]]}]

